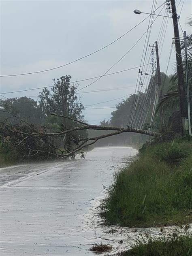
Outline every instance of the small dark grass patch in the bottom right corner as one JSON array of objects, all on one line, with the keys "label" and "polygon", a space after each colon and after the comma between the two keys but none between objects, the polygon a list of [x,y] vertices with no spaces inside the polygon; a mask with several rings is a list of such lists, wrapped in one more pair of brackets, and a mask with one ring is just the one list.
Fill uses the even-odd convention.
[{"label": "small dark grass patch in the bottom right corner", "polygon": [[121,256],[188,256],[192,255],[192,237],[185,235],[164,236],[147,241],[137,241],[131,250]]}]

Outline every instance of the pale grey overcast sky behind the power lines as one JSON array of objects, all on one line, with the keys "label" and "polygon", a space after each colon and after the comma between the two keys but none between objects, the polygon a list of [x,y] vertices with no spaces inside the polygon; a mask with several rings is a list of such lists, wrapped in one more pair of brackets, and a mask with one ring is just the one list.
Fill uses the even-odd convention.
[{"label": "pale grey overcast sky behind the power lines", "polygon": [[[146,14],[136,15],[133,11],[140,9],[149,13],[152,3],[152,0],[0,1],[0,74],[10,75],[45,70],[92,53],[111,43],[147,17]],[[158,0],[157,7],[162,3],[163,1]],[[178,14],[183,5],[179,21],[183,30],[189,31],[185,22],[192,13],[192,3],[190,0],[177,0],[176,5],[178,6]],[[157,13],[160,10],[161,8]],[[166,10],[163,9],[161,15],[165,14]],[[151,45],[158,39],[162,72],[166,71],[166,61],[169,56],[172,37],[174,37],[172,19],[166,19],[169,21],[165,36],[163,34],[158,38],[163,21],[163,17],[158,17],[153,24],[149,38]],[[53,78],[56,79],[62,75],[71,75],[71,81],[103,75],[137,42],[147,30],[148,23],[149,18],[113,45],[68,66],[45,73],[3,77],[0,79],[0,93],[49,86],[53,84]],[[163,38],[164,43],[162,44]],[[139,66],[144,42],[145,36],[109,73]],[[148,60],[149,54],[146,63]],[[174,62],[175,52],[173,51],[168,74],[173,73]],[[151,69],[151,66],[149,68]],[[142,70],[150,73],[150,69],[148,70],[146,67]],[[79,95],[82,95],[83,105],[122,98],[122,96],[134,93],[137,76],[138,68],[102,77],[81,91],[82,94]],[[80,82],[79,89],[92,81],[94,80]],[[144,86],[146,86],[146,77],[145,80],[143,78],[143,81]],[[83,93],[114,87],[120,89],[108,92]],[[30,96],[37,99],[40,91],[4,94],[4,96]],[[91,124],[98,124],[102,119],[109,119],[111,111],[115,110],[109,107],[115,107],[119,101],[121,99],[91,106],[106,107],[106,109],[86,109],[83,112],[85,119]]]}]

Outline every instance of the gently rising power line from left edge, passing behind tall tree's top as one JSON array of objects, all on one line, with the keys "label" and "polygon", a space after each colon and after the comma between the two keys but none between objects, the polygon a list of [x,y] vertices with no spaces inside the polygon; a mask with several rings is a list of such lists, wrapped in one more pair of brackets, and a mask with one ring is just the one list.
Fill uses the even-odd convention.
[{"label": "gently rising power line from left edge, passing behind tall tree's top", "polygon": [[[148,63],[148,64],[145,64],[143,66],[147,66],[147,65],[150,65],[150,64],[151,63]],[[98,77],[114,75],[114,74],[122,73],[122,72],[125,72],[125,71],[128,71],[128,70],[136,69],[136,68],[139,68],[139,67],[140,66],[137,66],[137,67],[134,67],[134,68],[128,68],[128,69],[120,70],[120,71],[117,71],[117,72],[109,73],[109,74],[106,74],[106,75],[97,76],[97,77],[91,77],[91,78],[86,78],[86,79],[81,79],[81,80],[73,81],[73,82],[69,82],[69,83],[78,83],[78,82],[82,82],[82,81],[87,81],[87,80],[95,79],[95,78],[98,78]],[[13,91],[13,92],[2,92],[0,94],[10,94],[10,93],[16,93],[16,92],[27,92],[27,91],[33,91],[33,90],[38,90],[38,89],[49,88],[49,87],[53,87],[53,86],[54,85],[49,85],[49,86],[43,86],[43,87],[36,87],[36,88],[32,88],[32,89],[18,90],[18,91]],[[81,92],[81,93],[83,93],[83,92]]]}]

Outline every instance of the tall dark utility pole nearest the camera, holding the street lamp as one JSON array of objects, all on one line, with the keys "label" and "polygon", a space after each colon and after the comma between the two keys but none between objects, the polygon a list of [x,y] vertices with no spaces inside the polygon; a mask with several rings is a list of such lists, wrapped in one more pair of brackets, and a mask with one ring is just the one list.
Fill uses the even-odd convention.
[{"label": "tall dark utility pole nearest the camera, holding the street lamp", "polygon": [[181,129],[184,133],[186,131],[186,118],[187,118],[187,101],[184,87],[184,77],[183,77],[183,64],[181,57],[181,45],[179,39],[179,28],[177,11],[175,6],[175,0],[171,0],[173,27],[175,35],[175,51],[176,51],[176,61],[177,61],[177,76],[178,76],[178,92],[179,92],[179,103],[180,103],[180,113],[181,113]]}]

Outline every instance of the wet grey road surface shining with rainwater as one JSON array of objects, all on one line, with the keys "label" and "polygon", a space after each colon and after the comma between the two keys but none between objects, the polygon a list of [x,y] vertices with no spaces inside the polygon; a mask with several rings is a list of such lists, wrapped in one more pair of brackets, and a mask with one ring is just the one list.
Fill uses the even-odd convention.
[{"label": "wet grey road surface shining with rainwater", "polygon": [[96,206],[115,170],[136,153],[96,148],[85,160],[0,169],[0,255],[94,255],[89,248],[101,241],[113,246],[112,255],[127,249],[134,230],[110,232],[115,228],[100,225]]}]

